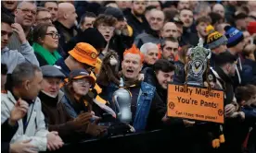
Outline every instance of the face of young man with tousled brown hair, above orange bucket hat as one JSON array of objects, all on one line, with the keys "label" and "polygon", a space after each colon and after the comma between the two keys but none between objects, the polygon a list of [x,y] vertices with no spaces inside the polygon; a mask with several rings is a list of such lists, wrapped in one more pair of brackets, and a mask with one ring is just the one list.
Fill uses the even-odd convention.
[{"label": "face of young man with tousled brown hair, above orange bucket hat", "polygon": [[98,25],[96,29],[98,29],[107,42],[111,40],[115,30],[114,27],[109,27],[104,23]]}]

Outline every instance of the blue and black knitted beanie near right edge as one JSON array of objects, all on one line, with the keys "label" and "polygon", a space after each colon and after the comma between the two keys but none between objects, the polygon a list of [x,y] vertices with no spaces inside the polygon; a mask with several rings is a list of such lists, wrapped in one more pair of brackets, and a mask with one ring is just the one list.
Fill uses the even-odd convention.
[{"label": "blue and black knitted beanie near right edge", "polygon": [[227,48],[236,46],[240,41],[244,40],[244,35],[240,30],[231,26],[225,26],[224,30],[225,30],[224,35],[228,40],[226,44]]}]

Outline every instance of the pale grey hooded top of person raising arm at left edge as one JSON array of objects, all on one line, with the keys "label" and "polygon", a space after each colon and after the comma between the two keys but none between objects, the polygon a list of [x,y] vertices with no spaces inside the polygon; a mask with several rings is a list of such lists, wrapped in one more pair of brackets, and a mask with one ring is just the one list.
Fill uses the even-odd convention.
[{"label": "pale grey hooded top of person raising arm at left edge", "polygon": [[16,65],[19,65],[23,62],[30,62],[33,65],[38,65],[37,58],[33,53],[32,46],[27,41],[20,45],[18,50],[10,50],[7,47],[3,48],[1,51],[1,63],[6,64],[8,68],[7,74],[11,74]]}]

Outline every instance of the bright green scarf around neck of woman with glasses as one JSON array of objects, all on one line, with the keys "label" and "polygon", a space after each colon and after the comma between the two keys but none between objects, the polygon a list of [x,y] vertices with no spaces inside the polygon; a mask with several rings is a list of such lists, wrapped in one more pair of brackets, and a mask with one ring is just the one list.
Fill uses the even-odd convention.
[{"label": "bright green scarf around neck of woman with glasses", "polygon": [[40,45],[36,42],[34,42],[32,44],[32,48],[35,53],[38,53],[45,59],[45,61],[47,62],[48,65],[54,65],[56,63],[56,61],[59,58],[61,58],[61,55],[57,51],[50,53],[42,45]]}]

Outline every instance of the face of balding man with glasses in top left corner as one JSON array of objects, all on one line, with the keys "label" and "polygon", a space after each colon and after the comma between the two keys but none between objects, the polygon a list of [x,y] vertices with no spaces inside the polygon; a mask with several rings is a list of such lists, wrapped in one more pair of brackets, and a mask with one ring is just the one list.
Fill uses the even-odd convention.
[{"label": "face of balding man with glasses in top left corner", "polygon": [[31,27],[35,21],[36,6],[30,2],[22,2],[15,11],[15,22],[22,27]]}]

